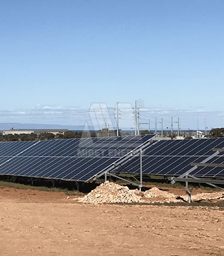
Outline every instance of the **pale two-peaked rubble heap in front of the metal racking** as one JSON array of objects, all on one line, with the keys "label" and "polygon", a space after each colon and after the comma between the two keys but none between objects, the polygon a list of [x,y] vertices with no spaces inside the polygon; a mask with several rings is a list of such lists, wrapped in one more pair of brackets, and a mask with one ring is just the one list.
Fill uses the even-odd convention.
[{"label": "pale two-peaked rubble heap in front of the metal racking", "polygon": [[153,187],[145,192],[106,181],[78,201],[86,204],[177,202],[177,196]]}]

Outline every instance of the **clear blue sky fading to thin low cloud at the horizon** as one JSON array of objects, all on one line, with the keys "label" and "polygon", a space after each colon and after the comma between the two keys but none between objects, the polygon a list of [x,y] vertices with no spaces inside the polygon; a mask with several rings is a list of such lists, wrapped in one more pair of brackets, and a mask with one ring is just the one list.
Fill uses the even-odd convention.
[{"label": "clear blue sky fading to thin low cloud at the horizon", "polygon": [[0,123],[83,124],[91,103],[142,99],[142,123],[223,126],[223,28],[223,0],[0,0]]}]

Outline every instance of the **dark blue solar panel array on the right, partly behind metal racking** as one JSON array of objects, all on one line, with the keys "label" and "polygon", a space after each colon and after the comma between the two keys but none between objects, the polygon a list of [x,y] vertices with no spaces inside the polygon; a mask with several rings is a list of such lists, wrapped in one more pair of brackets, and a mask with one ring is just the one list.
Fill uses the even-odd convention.
[{"label": "dark blue solar panel array on the right, partly behind metal racking", "polygon": [[[190,163],[201,162],[214,152],[213,148],[224,147],[224,138],[186,139],[159,141],[151,144],[144,151],[142,169],[144,174],[179,176],[192,168]],[[208,163],[224,163],[223,152],[213,157]],[[116,172],[139,173],[139,156],[117,167]],[[198,167],[191,175],[196,177],[224,178],[223,168]]]}]

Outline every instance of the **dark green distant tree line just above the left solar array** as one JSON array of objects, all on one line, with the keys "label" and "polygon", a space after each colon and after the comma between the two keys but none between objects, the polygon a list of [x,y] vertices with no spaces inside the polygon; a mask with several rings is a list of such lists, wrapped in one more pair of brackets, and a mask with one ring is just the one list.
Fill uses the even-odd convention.
[{"label": "dark green distant tree line just above the left solar array", "polygon": [[[73,132],[71,130],[68,130],[62,133],[53,134],[50,132],[44,132],[44,133],[31,133],[31,134],[7,134],[2,135],[0,133],[0,141],[46,141],[49,139],[74,139],[74,138],[96,138],[96,137],[111,137],[116,136],[117,130],[109,130],[109,129],[102,129],[98,130],[96,132]],[[129,133],[122,133],[121,130],[119,130],[119,136],[121,135],[130,135]]]}]

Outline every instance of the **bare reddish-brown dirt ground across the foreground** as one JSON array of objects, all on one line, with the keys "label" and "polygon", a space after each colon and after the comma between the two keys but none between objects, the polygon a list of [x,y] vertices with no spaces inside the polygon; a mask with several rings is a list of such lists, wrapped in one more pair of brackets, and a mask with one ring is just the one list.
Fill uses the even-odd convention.
[{"label": "bare reddish-brown dirt ground across the foreground", "polygon": [[4,188],[0,255],[224,255],[223,217],[217,207],[89,205]]}]

